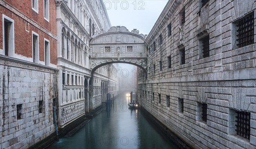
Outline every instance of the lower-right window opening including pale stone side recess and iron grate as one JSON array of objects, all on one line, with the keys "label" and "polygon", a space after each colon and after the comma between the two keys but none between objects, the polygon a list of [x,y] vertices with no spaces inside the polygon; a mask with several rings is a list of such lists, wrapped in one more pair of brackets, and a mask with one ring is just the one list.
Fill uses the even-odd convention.
[{"label": "lower-right window opening including pale stone side recess and iron grate", "polygon": [[250,112],[230,109],[229,134],[250,140]]}]

